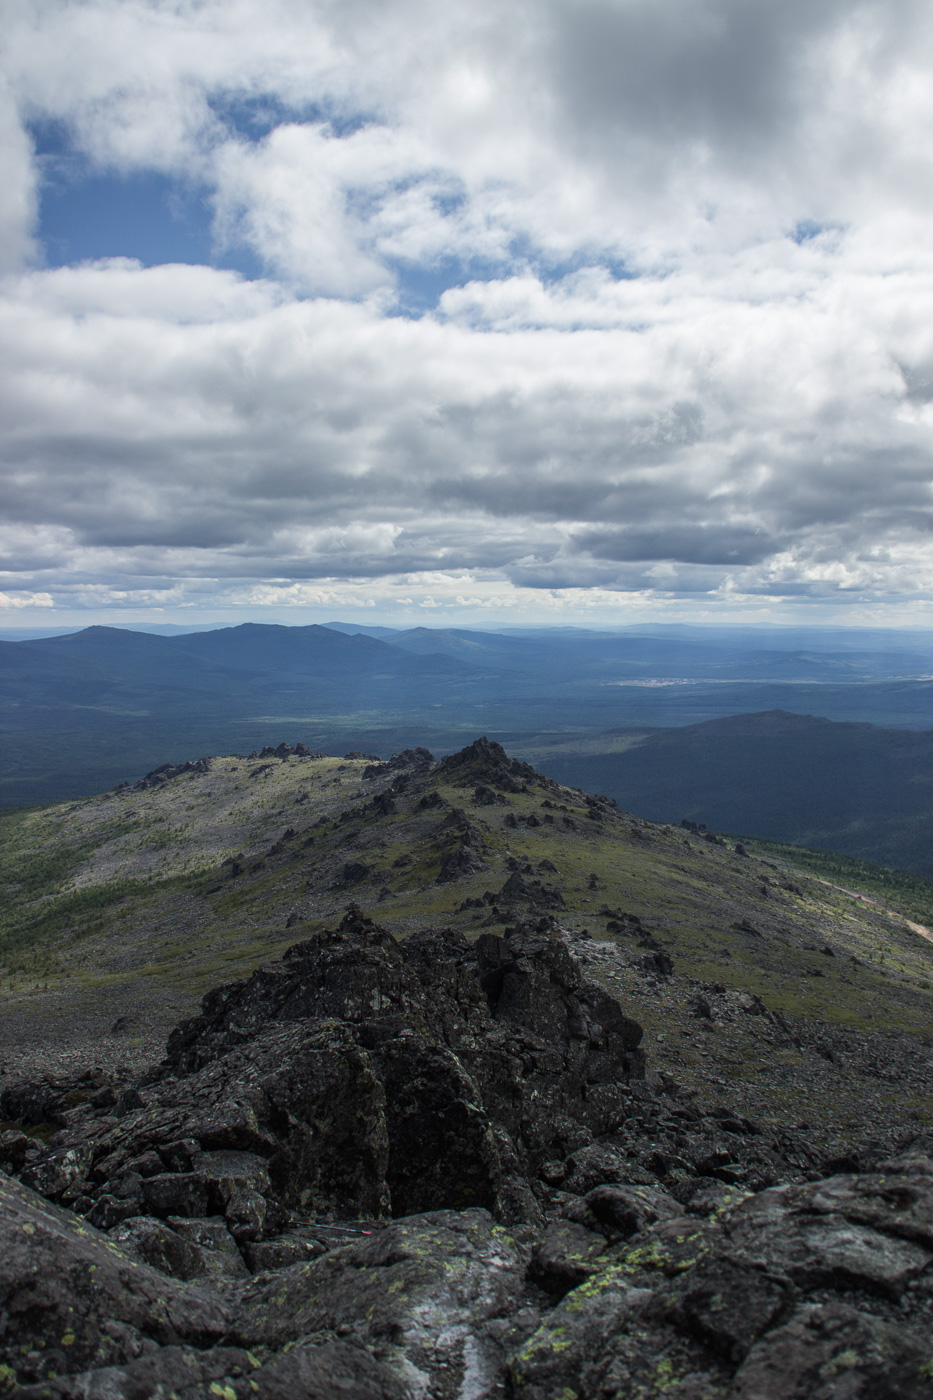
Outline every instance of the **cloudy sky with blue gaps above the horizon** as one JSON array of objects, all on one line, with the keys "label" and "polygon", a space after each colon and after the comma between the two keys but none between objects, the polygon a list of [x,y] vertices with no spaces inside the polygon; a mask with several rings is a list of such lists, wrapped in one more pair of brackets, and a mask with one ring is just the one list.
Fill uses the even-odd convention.
[{"label": "cloudy sky with blue gaps above the horizon", "polygon": [[0,623],[933,623],[929,0],[0,0]]}]

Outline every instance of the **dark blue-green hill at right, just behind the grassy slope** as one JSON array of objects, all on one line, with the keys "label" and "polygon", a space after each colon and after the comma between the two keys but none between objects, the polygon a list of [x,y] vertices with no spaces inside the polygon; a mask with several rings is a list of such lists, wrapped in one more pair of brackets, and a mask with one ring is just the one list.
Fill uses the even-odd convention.
[{"label": "dark blue-green hill at right, just behind the grassy slope", "polygon": [[535,762],[654,822],[686,818],[933,875],[933,731],[770,710],[619,731],[602,749],[553,746]]}]

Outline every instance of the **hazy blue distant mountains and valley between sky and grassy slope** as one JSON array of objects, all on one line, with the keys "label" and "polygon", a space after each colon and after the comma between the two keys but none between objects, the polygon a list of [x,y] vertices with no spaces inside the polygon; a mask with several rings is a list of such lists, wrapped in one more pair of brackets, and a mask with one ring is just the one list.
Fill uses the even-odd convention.
[{"label": "hazy blue distant mountains and valley between sky and grassy slope", "polygon": [[933,874],[933,637],[87,627],[0,641],[0,801],[67,799],[282,739],[478,734],[656,820]]}]

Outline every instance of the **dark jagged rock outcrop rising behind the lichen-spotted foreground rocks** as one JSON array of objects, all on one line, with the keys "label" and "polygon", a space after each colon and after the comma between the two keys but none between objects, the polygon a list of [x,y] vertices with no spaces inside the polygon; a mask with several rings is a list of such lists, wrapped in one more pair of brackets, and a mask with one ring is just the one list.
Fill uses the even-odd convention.
[{"label": "dark jagged rock outcrop rising behind the lichen-spotted foreground rocks", "polygon": [[209,993],[148,1082],[83,1107],[22,1172],[102,1228],[217,1217],[240,1246],[310,1215],[534,1221],[541,1162],[623,1116],[640,1039],[546,921],[399,945],[352,906]]}]

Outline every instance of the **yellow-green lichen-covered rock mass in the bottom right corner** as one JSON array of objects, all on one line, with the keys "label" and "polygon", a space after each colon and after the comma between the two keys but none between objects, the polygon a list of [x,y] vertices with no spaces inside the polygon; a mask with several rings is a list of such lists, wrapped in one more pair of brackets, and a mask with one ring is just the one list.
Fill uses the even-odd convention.
[{"label": "yellow-green lichen-covered rock mass in the bottom right corner", "polygon": [[593,1252],[588,1277],[513,1354],[510,1393],[926,1400],[933,1163],[885,1166],[766,1190],[707,1221],[658,1219]]}]

